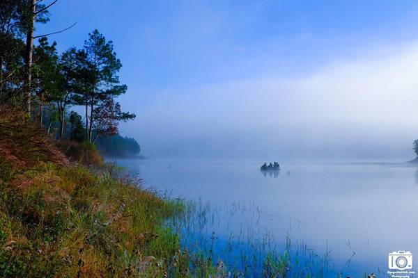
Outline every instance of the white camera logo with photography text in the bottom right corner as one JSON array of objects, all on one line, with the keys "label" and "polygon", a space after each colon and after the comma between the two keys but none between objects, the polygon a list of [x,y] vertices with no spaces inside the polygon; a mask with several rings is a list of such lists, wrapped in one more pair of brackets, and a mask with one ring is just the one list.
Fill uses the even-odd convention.
[{"label": "white camera logo with photography text in the bottom right corner", "polygon": [[389,277],[409,278],[415,274],[412,271],[412,252],[395,251],[388,254]]}]

